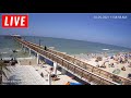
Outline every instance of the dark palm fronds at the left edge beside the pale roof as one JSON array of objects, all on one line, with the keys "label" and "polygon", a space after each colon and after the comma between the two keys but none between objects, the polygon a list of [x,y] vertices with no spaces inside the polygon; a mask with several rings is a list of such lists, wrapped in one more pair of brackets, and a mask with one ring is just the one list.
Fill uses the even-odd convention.
[{"label": "dark palm fronds at the left edge beside the pale roof", "polygon": [[9,71],[9,69],[7,68],[7,64],[3,62],[3,60],[0,60],[0,84],[2,84],[2,75],[4,75],[7,77],[3,69]]}]

